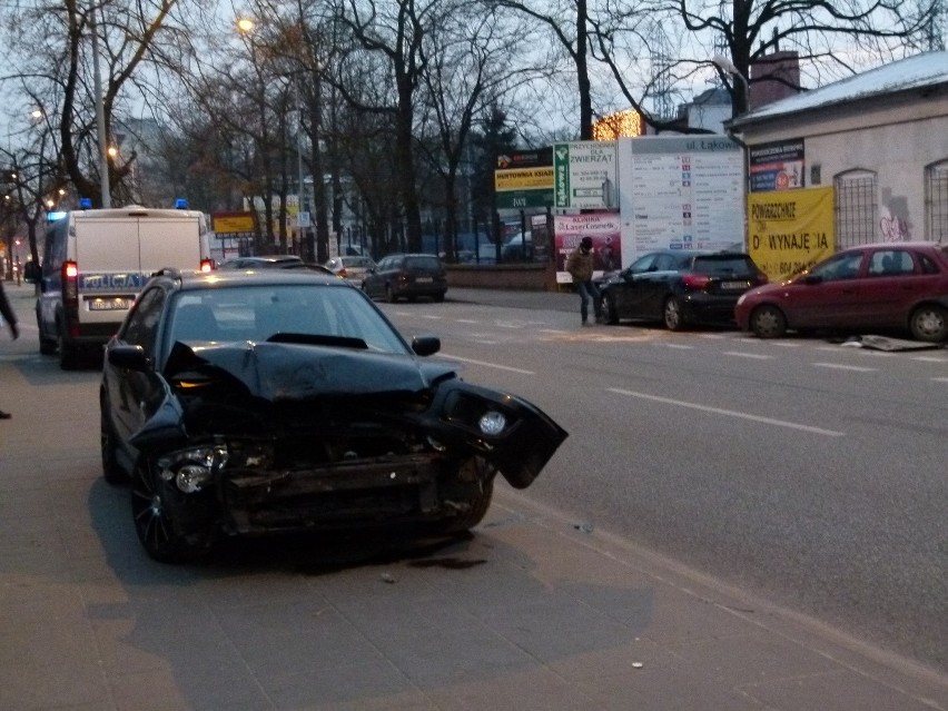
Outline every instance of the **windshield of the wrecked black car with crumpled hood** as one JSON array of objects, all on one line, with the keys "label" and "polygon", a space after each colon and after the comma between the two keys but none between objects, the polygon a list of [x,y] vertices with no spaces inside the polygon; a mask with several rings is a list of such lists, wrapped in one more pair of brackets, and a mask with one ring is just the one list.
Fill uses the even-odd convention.
[{"label": "windshield of the wrecked black car with crumpled hood", "polygon": [[[364,343],[376,353],[409,353],[365,296],[329,285],[240,285],[179,292],[170,305],[164,355],[176,340],[191,344],[268,339]],[[278,335],[278,336],[277,336]],[[277,338],[274,338],[277,336]],[[309,336],[309,338],[306,338]]]}]

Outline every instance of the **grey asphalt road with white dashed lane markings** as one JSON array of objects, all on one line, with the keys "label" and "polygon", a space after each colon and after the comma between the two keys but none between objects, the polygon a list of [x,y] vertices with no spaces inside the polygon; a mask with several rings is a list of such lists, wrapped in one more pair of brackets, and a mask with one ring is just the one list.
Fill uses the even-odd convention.
[{"label": "grey asphalt road with white dashed lane markings", "polygon": [[523,296],[383,308],[571,433],[531,497],[948,669],[948,352],[580,328],[576,297]]}]

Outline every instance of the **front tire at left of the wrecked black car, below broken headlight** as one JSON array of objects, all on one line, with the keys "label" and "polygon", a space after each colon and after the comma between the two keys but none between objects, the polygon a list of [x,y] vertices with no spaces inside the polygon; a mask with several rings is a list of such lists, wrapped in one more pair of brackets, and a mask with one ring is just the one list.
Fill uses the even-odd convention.
[{"label": "front tire at left of the wrecked black car, below broken headlight", "polygon": [[186,530],[175,515],[180,496],[171,482],[159,478],[140,462],[131,476],[131,515],[135,532],[148,555],[160,563],[194,563],[206,557],[216,539],[213,521],[190,523]]}]

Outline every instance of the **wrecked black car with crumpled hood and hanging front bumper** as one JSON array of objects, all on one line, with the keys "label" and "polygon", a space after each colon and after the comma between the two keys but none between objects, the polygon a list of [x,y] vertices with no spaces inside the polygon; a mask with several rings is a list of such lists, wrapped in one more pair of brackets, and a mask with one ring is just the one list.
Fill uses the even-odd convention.
[{"label": "wrecked black car with crumpled hood and hanging front bumper", "polygon": [[138,537],[168,563],[220,536],[467,531],[496,474],[529,486],[566,433],[421,357],[440,347],[332,276],[164,271],[106,347],[106,481],[130,480]]}]

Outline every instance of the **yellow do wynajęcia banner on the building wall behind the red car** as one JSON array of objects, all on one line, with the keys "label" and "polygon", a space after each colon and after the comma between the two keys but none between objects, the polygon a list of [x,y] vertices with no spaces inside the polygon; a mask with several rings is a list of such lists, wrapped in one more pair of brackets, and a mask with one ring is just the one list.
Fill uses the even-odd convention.
[{"label": "yellow do wynaj\u0119cia banner on the building wall behind the red car", "polygon": [[748,196],[749,250],[771,282],[781,282],[836,251],[833,189]]}]

